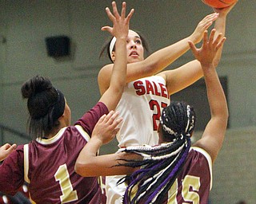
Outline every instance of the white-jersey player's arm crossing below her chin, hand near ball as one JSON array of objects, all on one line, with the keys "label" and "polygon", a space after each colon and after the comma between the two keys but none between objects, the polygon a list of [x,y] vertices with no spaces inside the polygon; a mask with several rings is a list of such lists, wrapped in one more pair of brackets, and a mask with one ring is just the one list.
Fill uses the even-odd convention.
[{"label": "white-jersey player's arm crossing below her chin, hand near ball", "polygon": [[[212,25],[216,18],[218,18],[217,13],[207,15],[198,23],[198,26],[194,29],[194,33],[189,37],[186,37],[173,45],[159,49],[143,61],[128,64],[126,82],[138,80],[142,77],[149,77],[161,72],[190,49],[187,41],[193,41],[195,44],[201,41],[203,32]],[[106,92],[106,89],[110,85],[110,74],[112,73],[112,69],[113,64],[106,65],[98,73],[98,85],[101,94]]]}]

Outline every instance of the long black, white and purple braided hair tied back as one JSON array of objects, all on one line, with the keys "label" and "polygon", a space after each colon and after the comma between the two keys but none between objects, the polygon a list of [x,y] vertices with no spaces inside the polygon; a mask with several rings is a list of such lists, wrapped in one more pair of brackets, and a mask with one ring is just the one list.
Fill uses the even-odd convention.
[{"label": "long black, white and purple braided hair tied back", "polygon": [[143,160],[125,160],[126,167],[141,167],[119,182],[129,181],[123,203],[161,203],[182,170],[194,131],[194,109],[185,102],[172,101],[162,110],[162,137],[168,143],[154,147],[126,147],[120,151],[142,155]]}]

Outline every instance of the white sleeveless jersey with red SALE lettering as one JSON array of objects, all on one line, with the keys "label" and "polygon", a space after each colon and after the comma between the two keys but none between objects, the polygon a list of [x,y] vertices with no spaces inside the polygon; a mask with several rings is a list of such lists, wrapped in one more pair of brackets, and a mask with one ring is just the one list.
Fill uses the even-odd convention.
[{"label": "white sleeveless jersey with red SALE lettering", "polygon": [[162,77],[146,77],[126,84],[116,108],[123,118],[118,146],[158,144],[159,117],[162,108],[169,104],[170,96]]}]

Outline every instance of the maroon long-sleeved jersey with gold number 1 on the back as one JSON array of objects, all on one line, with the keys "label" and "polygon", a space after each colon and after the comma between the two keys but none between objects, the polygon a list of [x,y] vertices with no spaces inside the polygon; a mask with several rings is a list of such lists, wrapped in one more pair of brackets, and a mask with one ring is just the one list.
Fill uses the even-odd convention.
[{"label": "maroon long-sleeved jersey with gold number 1 on the back", "polygon": [[14,194],[25,178],[36,203],[102,203],[98,178],[77,175],[74,164],[98,119],[107,113],[106,105],[98,103],[53,138],[19,146],[0,167],[0,191]]}]

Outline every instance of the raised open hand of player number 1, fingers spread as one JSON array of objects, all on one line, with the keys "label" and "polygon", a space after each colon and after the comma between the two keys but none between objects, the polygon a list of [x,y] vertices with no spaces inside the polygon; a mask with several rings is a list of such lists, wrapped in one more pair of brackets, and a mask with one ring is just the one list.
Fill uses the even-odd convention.
[{"label": "raised open hand of player number 1, fingers spread", "polygon": [[102,30],[110,32],[115,37],[126,37],[129,31],[130,18],[134,14],[134,9],[126,17],[126,2],[122,2],[121,15],[118,13],[116,2],[112,2],[113,14],[110,9],[106,7],[106,14],[113,22],[113,27],[103,26]]}]

